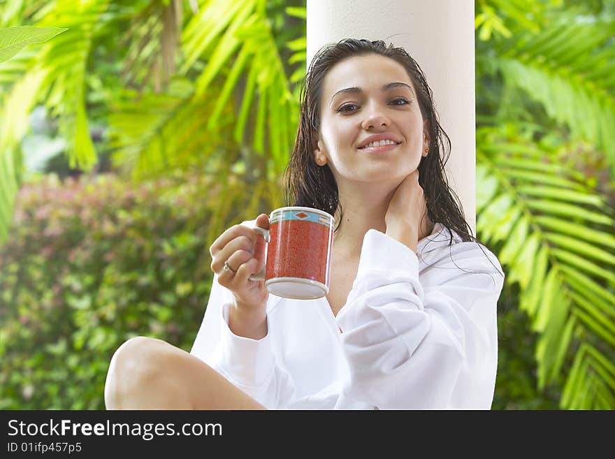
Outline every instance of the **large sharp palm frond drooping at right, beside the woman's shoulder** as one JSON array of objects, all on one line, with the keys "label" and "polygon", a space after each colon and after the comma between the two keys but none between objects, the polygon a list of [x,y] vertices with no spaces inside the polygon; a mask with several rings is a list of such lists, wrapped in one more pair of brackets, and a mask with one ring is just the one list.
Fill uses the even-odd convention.
[{"label": "large sharp palm frond drooping at right, beside the woman's shoulder", "polygon": [[[479,129],[477,145],[477,230],[501,246],[507,282],[519,283],[519,307],[538,333],[539,388],[563,375],[562,407],[602,406],[615,397],[615,220],[607,203],[560,164],[557,150],[490,128]],[[600,397],[572,398],[579,388]]]}]

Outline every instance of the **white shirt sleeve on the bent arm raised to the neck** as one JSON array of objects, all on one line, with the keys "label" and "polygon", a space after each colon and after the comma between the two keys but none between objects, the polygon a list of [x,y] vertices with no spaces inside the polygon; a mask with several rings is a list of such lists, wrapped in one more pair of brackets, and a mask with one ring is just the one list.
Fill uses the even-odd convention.
[{"label": "white shirt sleeve on the bent arm raised to the neck", "polygon": [[410,248],[366,233],[356,279],[335,319],[350,370],[336,408],[491,407],[500,263],[476,242],[440,247],[427,258],[419,281]]}]

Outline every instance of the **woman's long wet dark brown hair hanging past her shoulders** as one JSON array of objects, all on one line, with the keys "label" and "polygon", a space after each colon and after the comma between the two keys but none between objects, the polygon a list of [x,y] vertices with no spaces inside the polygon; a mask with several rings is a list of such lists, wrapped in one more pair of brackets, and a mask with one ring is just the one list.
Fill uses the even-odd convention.
[{"label": "woman's long wet dark brown hair hanging past her shoulders", "polygon": [[[338,196],[338,185],[328,164],[319,166],[314,160],[314,145],[320,131],[320,100],[324,78],[335,64],[343,59],[366,54],[379,54],[401,64],[412,80],[417,93],[423,119],[428,120],[429,150],[419,163],[419,184],[424,190],[428,216],[431,221],[441,223],[454,230],[463,241],[475,241],[470,225],[458,196],[449,187],[444,173],[444,164],[451,151],[451,140],[444,132],[433,103],[433,94],[427,85],[425,75],[412,57],[393,44],[384,41],[368,41],[347,38],[339,43],[324,46],[317,52],[301,84],[300,115],[297,137],[291,159],[284,172],[286,205],[301,205],[324,210],[336,217],[335,232],[342,224],[343,210]],[[451,234],[452,242],[453,235]]]}]

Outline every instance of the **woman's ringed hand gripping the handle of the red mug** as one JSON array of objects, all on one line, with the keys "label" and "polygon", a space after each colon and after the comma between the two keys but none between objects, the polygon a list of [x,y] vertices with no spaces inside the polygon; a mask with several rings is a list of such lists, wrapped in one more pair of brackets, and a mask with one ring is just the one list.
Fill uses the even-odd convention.
[{"label": "woman's ringed hand gripping the handle of the red mug", "polygon": [[[269,229],[269,217],[260,214],[256,226]],[[211,245],[211,268],[218,283],[233,293],[235,305],[247,313],[266,311],[269,292],[264,281],[249,280],[265,266],[265,240],[262,235],[243,224],[231,226]],[[224,262],[231,270],[224,269]],[[235,270],[233,272],[232,270]]]}]

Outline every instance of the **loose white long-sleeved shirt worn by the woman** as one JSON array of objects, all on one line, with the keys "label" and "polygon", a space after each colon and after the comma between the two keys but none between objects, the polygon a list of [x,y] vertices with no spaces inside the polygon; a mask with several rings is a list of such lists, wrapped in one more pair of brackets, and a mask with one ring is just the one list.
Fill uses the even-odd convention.
[{"label": "loose white long-sleeved shirt worn by the woman", "polygon": [[504,273],[452,234],[435,224],[417,256],[370,229],[338,315],[270,293],[261,340],[231,332],[215,275],[191,354],[268,409],[490,409]]}]

